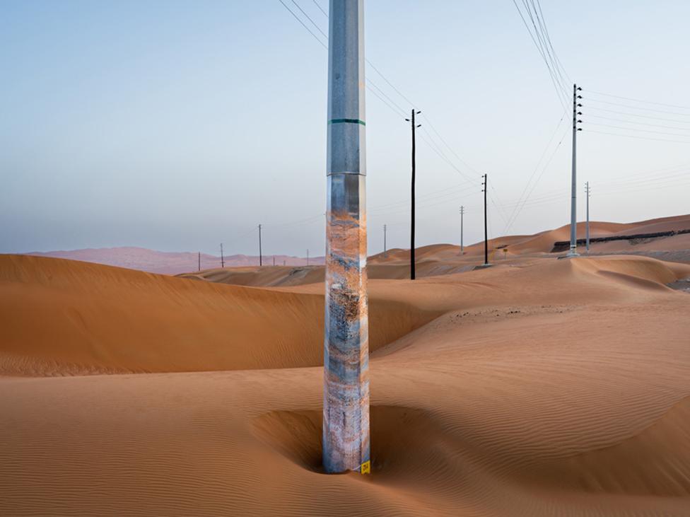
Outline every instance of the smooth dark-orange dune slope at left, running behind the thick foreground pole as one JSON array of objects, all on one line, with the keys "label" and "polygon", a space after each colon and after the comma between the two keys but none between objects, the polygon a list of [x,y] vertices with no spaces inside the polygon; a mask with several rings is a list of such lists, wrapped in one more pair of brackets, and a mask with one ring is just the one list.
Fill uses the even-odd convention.
[{"label": "smooth dark-orange dune slope at left, running behind the thick foreground pole", "polygon": [[[0,374],[322,364],[323,297],[190,282],[62,259],[0,256]],[[435,318],[370,297],[370,348]]]}]

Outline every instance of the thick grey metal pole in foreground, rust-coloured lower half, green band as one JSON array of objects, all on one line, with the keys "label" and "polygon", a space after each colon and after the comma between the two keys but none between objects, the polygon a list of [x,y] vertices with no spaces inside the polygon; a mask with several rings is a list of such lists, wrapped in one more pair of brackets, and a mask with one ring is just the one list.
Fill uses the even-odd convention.
[{"label": "thick grey metal pole in foreground, rust-coloured lower half, green band", "polygon": [[331,0],[323,465],[370,472],[364,1]]}]

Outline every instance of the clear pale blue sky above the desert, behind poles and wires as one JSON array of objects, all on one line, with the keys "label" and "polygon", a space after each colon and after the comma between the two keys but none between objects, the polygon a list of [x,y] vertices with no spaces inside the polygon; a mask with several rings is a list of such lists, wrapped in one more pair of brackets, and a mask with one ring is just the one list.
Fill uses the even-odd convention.
[{"label": "clear pale blue sky above the desert, behind poles and wires", "polygon": [[[326,0],[297,3],[327,32]],[[583,86],[592,219],[690,212],[690,2],[541,3]],[[563,108],[513,1],[365,6],[366,56],[423,112],[418,245],[459,243],[461,204],[465,242],[481,238],[485,172],[493,236],[568,223],[571,115],[547,147]],[[279,0],[4,0],[0,77],[0,252],[223,242],[255,255],[262,223],[267,255],[322,254],[327,53]],[[409,246],[410,131],[371,91],[366,112],[373,253],[384,224],[389,248]]]}]

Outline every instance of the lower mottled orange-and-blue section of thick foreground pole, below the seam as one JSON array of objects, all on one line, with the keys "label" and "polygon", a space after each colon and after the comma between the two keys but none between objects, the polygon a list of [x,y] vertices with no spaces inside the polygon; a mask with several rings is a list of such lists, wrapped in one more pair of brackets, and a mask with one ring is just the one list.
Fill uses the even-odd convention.
[{"label": "lower mottled orange-and-blue section of thick foreground pole, below the seam", "polygon": [[[323,465],[369,468],[366,176],[328,176]],[[362,472],[364,473],[364,472]]]}]

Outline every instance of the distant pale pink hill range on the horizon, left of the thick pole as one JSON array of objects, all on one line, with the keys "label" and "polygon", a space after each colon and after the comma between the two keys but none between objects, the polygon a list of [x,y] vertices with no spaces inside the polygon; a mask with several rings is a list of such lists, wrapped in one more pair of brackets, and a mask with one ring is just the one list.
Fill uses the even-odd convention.
[{"label": "distant pale pink hill range on the horizon, left of the thick pole", "polygon": [[[139,269],[159,274],[178,274],[197,271],[198,256],[196,252],[165,252],[148,250],[146,248],[87,248],[85,250],[30,252],[25,255],[40,257],[57,257],[82,262],[95,262],[128,269]],[[303,266],[307,264],[305,257],[291,257],[289,255],[264,255],[264,265]],[[310,257],[310,265],[322,265],[324,257]],[[225,257],[226,267],[257,266],[259,257],[252,255],[229,255]],[[201,253],[201,269],[215,269],[221,267],[221,257]]]}]

